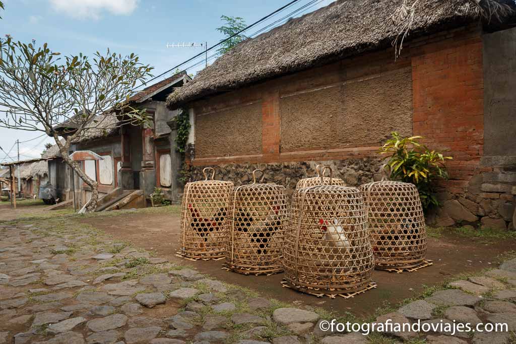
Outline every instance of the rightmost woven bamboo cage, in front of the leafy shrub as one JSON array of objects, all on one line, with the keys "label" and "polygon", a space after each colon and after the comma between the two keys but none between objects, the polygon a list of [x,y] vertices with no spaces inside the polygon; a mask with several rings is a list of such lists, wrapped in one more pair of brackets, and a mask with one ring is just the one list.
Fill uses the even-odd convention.
[{"label": "rightmost woven bamboo cage, in front of the leafy shrub", "polygon": [[427,250],[425,217],[417,188],[410,183],[381,181],[360,186],[368,209],[368,228],[376,268],[411,269]]}]

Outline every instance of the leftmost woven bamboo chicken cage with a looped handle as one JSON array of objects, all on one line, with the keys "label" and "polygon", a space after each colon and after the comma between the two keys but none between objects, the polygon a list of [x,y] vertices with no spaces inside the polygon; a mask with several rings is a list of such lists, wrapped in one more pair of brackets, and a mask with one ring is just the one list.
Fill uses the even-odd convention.
[{"label": "leftmost woven bamboo chicken cage with a looped handle", "polygon": [[[212,171],[211,180],[206,175]],[[233,183],[216,181],[213,168],[203,169],[204,181],[186,183],[181,214],[181,254],[187,258],[221,258],[231,224]]]}]

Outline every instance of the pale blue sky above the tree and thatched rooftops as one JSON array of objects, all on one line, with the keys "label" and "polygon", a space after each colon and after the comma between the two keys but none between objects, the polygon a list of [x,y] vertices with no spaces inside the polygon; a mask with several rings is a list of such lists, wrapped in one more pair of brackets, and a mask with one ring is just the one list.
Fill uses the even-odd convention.
[{"label": "pale blue sky above the tree and thatched rooftops", "polygon": [[[250,28],[251,36],[265,26],[289,17],[327,6],[333,0],[299,0],[269,20]],[[36,44],[48,43],[52,51],[62,55],[92,56],[96,51],[122,55],[135,53],[144,64],[161,74],[200,53],[200,47],[167,48],[168,44],[203,43],[208,47],[224,37],[216,28],[222,25],[221,15],[242,17],[251,24],[290,0],[3,0],[5,11],[0,15],[0,35]],[[303,6],[306,6],[302,8]],[[293,11],[298,12],[290,15]],[[272,28],[272,27],[271,27]],[[270,29],[270,28],[269,28]],[[268,29],[267,29],[268,30]],[[215,53],[208,52],[208,57]],[[195,74],[204,68],[202,57],[185,64]],[[212,63],[212,60],[208,61]],[[182,67],[184,68],[184,67]],[[170,74],[164,77],[170,76]],[[2,76],[0,76],[2,77]],[[163,79],[159,78],[159,81]],[[41,132],[0,128],[0,161],[17,160],[19,139],[20,160],[40,157],[47,142],[54,143]],[[41,137],[40,137],[41,136]],[[30,140],[30,141],[28,141]],[[27,141],[27,142],[24,142]],[[12,148],[12,150],[10,150]],[[6,153],[9,153],[8,155]]]}]

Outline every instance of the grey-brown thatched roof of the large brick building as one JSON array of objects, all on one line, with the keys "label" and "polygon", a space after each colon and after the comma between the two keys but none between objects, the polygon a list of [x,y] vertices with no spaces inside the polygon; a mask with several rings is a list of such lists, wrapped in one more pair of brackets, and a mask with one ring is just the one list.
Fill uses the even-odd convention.
[{"label": "grey-brown thatched roof of the large brick building", "polygon": [[[480,5],[495,1],[507,0],[481,0]],[[175,109],[204,96],[386,48],[410,20],[410,15],[400,15],[404,3],[337,0],[291,19],[236,45],[170,94],[167,105]],[[410,7],[414,0],[406,3]],[[418,0],[409,32],[413,38],[463,26],[479,21],[480,12],[477,0]],[[394,18],[401,20],[396,23]]]}]

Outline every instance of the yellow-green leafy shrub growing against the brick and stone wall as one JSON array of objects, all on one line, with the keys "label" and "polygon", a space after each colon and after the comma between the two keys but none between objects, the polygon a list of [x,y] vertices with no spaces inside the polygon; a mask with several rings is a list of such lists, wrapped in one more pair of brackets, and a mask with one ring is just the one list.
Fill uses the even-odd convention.
[{"label": "yellow-green leafy shrub growing against the brick and stone wall", "polygon": [[391,135],[380,149],[380,154],[390,155],[387,164],[391,168],[391,179],[414,184],[425,211],[439,207],[435,182],[448,178],[444,161],[452,157],[429,150],[418,141],[424,139],[422,136],[401,137],[397,132]]}]

